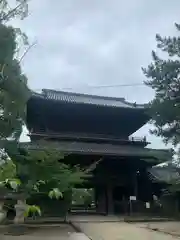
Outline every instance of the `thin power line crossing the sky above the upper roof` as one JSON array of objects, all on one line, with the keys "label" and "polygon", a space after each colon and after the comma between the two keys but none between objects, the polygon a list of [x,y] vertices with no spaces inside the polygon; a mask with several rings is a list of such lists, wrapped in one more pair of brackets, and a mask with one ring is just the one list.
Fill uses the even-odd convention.
[{"label": "thin power line crossing the sky above the upper roof", "polygon": [[[143,83],[131,83],[131,84],[114,84],[114,85],[99,85],[99,86],[81,86],[79,88],[81,89],[102,89],[102,88],[115,88],[115,87],[138,87],[138,86],[146,86]],[[34,89],[35,91],[41,91],[42,89]],[[74,88],[70,87],[70,88],[61,88],[61,89],[57,89],[56,90],[74,90]]]}]

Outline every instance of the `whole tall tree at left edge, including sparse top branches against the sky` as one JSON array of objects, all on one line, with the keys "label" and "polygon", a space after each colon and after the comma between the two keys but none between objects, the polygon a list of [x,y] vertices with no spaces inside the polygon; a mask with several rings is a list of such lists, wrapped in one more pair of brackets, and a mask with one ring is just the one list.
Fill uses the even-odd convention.
[{"label": "whole tall tree at left edge, including sparse top branches against the sky", "polygon": [[[27,37],[18,28],[7,26],[10,20],[28,14],[26,0],[17,0],[11,8],[7,0],[0,1],[0,139],[18,139],[25,119],[25,106],[30,91],[22,73],[17,53]],[[21,41],[23,40],[23,41]]]}]

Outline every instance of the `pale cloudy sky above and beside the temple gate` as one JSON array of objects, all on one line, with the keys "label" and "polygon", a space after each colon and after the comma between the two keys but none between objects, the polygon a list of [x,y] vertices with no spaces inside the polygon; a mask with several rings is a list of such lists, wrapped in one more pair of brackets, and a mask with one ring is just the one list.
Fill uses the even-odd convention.
[{"label": "pale cloudy sky above and beside the temple gate", "polygon": [[[147,103],[146,86],[93,88],[143,83],[141,67],[151,62],[156,33],[176,33],[180,1],[164,0],[31,0],[29,17],[14,24],[37,44],[22,62],[32,90],[42,88],[124,97]],[[153,148],[162,140],[149,134],[149,125],[136,136],[147,136]],[[21,137],[27,141],[27,131]]]}]

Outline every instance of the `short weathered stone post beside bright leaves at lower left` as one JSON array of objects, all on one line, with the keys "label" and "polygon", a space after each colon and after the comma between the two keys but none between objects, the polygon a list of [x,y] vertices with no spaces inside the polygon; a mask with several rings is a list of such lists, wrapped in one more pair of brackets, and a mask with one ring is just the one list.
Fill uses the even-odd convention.
[{"label": "short weathered stone post beside bright leaves at lower left", "polygon": [[15,224],[23,224],[25,220],[25,213],[27,210],[26,200],[17,200],[17,204],[15,205],[16,216],[14,218]]}]

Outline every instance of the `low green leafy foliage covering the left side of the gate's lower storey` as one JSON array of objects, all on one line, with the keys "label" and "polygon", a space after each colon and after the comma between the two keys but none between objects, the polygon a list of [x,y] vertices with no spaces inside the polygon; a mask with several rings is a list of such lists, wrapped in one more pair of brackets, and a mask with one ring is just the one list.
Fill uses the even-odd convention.
[{"label": "low green leafy foliage covering the left side of the gate's lower storey", "polygon": [[[12,149],[11,149],[12,150]],[[63,197],[63,192],[81,184],[87,177],[85,170],[63,162],[64,156],[58,151],[8,151],[16,165],[16,176],[21,181],[18,191],[27,194],[44,193],[49,197]]]}]

